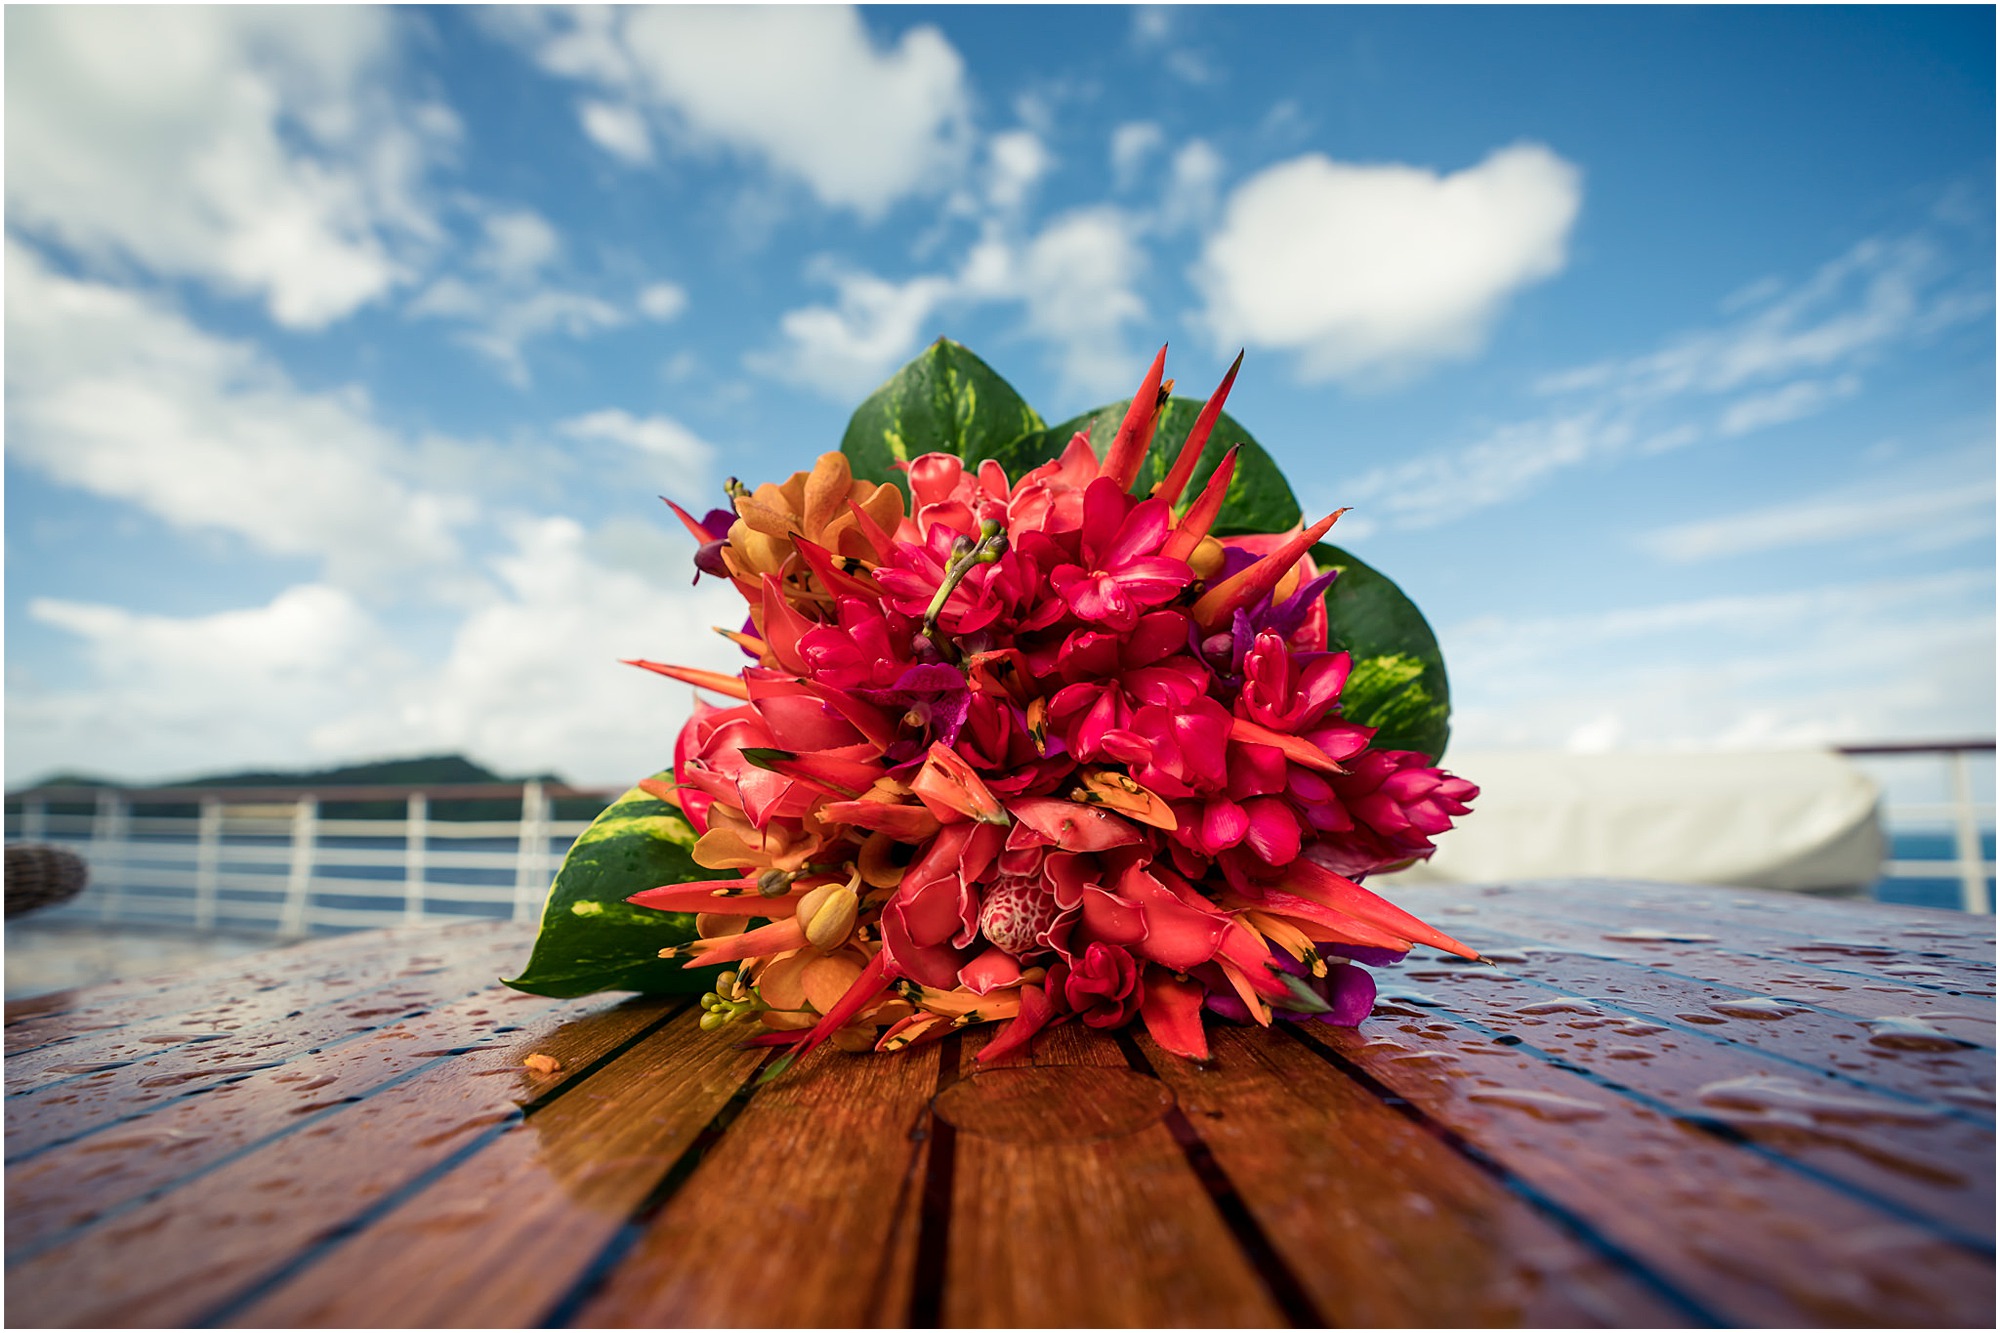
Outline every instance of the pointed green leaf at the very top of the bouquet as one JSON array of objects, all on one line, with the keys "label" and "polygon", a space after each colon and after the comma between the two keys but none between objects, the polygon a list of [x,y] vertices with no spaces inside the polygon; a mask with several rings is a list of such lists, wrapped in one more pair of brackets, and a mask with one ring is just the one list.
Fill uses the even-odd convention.
[{"label": "pointed green leaf at the very top of the bouquet", "polygon": [[898,462],[944,452],[978,464],[1040,430],[1042,418],[1012,384],[958,342],[938,338],[854,410],[840,452],[856,476],[896,482],[908,494]]}]

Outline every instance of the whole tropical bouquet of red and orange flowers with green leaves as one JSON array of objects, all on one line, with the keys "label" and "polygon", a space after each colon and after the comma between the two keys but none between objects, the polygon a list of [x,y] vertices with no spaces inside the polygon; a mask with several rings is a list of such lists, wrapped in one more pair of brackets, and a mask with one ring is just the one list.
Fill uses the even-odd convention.
[{"label": "whole tropical bouquet of red and orange flowers with green leaves", "polygon": [[1476,957],[1358,883],[1478,795],[1436,638],[1302,526],[1236,366],[1196,404],[1164,358],[1050,430],[940,340],[810,472],[676,504],[752,660],[634,662],[730,705],[576,843],[508,985],[698,991],[782,1063],[1070,1019],[1204,1059],[1204,1013],[1354,1025],[1362,965]]}]

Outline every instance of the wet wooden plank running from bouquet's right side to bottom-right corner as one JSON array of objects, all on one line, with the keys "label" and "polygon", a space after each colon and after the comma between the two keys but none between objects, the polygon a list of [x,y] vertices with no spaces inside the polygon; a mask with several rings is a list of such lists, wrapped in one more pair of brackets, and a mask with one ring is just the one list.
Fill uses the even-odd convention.
[{"label": "wet wooden plank running from bouquet's right side to bottom-right corner", "polygon": [[1436,1009],[1388,1011],[1402,1021],[1362,1031],[1306,1025],[1306,1035],[1342,1069],[1406,1099],[1520,1187],[1640,1257],[1712,1321],[1992,1321],[1990,1253],[1694,1131],[1528,1043],[1484,1041]]}]

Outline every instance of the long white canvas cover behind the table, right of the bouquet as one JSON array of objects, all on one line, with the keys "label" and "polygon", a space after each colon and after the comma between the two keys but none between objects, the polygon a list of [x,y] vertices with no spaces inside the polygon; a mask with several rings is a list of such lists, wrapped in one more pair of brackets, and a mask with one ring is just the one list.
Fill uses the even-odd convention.
[{"label": "long white canvas cover behind the table, right of the bouquet", "polygon": [[1478,783],[1438,853],[1388,883],[1656,879],[1864,893],[1882,871],[1880,793],[1832,751],[1450,753]]}]

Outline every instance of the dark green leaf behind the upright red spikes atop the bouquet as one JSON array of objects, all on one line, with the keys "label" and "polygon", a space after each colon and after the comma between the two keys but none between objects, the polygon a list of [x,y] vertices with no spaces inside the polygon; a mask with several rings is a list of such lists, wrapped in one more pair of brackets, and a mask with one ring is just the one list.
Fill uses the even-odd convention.
[{"label": "dark green leaf behind the upright red spikes atop the bouquet", "polygon": [[[1020,480],[1020,474],[1028,468],[1050,458],[1060,458],[1062,450],[1070,444],[1070,436],[1078,430],[1088,430],[1090,448],[1102,458],[1110,450],[1112,438],[1118,434],[1118,422],[1124,420],[1130,402],[1130,398],[1124,402],[1106,402],[1060,426],[1014,440],[1008,448],[992,456],[1000,458],[1010,478]],[[1188,430],[1194,428],[1194,418],[1200,414],[1200,398],[1168,400],[1166,410],[1160,414],[1160,424],[1152,432],[1152,446],[1138,466],[1138,480],[1132,484],[1134,494],[1146,494],[1154,482],[1166,476],[1174,466],[1174,458],[1180,456],[1180,444],[1188,438]],[[1202,460],[1194,464],[1194,478],[1188,482],[1176,508],[1186,510],[1194,502],[1194,496],[1208,484],[1210,474],[1214,474],[1216,464],[1222,462],[1222,454],[1230,450],[1230,444],[1242,444],[1244,450],[1236,456],[1236,474],[1230,478],[1230,494],[1222,500],[1222,512],[1216,516],[1214,534],[1284,532],[1298,522],[1298,498],[1292,494],[1292,486],[1286,484],[1284,472],[1250,438],[1242,422],[1228,412],[1216,418],[1216,428],[1208,434],[1208,444],[1202,446]]]}]

